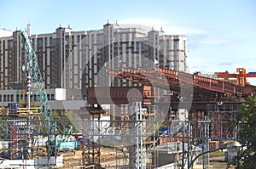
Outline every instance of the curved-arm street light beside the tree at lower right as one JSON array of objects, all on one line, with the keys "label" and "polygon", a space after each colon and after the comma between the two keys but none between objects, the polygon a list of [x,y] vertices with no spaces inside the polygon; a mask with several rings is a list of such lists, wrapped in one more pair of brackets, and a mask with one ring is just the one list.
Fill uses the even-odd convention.
[{"label": "curved-arm street light beside the tree at lower right", "polygon": [[[218,150],[220,150],[220,149],[228,149],[228,151],[231,151],[231,152],[236,151],[236,152],[237,152],[237,150],[240,149],[240,147],[241,147],[241,144],[239,144],[237,141],[226,142],[223,147],[220,147],[220,148],[218,148],[218,149],[211,149],[211,150],[209,150],[209,151],[205,151],[205,152],[201,153],[200,155],[195,156],[195,159],[193,159],[193,160],[190,162],[189,168],[190,168],[191,166],[193,166],[193,163],[194,163],[194,162],[196,161],[196,159],[198,159],[201,155],[205,155],[205,154],[207,154],[207,153],[212,153],[212,152],[218,151]],[[189,169],[189,168],[188,168],[188,169]]]}]

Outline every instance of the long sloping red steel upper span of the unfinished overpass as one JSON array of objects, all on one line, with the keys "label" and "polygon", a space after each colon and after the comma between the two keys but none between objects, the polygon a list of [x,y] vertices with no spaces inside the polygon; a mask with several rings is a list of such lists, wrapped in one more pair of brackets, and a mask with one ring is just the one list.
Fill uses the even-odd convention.
[{"label": "long sloping red steel upper span of the unfinished overpass", "polygon": [[254,86],[246,88],[237,87],[229,82],[222,82],[204,76],[164,68],[138,68],[137,70],[123,68],[122,70],[107,70],[107,72],[110,76],[118,76],[128,81],[143,83],[147,86],[172,89],[177,92],[179,92],[181,86],[192,86],[197,89],[195,91],[208,91],[232,95],[243,92],[246,92],[246,94],[256,94],[256,87]]}]

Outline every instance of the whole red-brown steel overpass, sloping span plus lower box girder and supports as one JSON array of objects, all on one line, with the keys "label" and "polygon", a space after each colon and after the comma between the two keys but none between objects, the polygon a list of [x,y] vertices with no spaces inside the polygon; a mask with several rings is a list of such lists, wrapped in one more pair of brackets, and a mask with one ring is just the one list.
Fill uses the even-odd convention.
[{"label": "whole red-brown steel overpass, sloping span plus lower box girder and supports", "polygon": [[[172,121],[179,109],[189,111],[190,121],[207,119],[216,122],[212,129],[213,138],[235,137],[235,131],[228,133],[228,124],[223,122],[236,118],[240,104],[247,96],[256,95],[256,87],[245,87],[222,82],[204,76],[192,75],[163,68],[107,70],[108,75],[143,84],[143,87],[91,87],[88,89],[89,104],[129,104],[142,101],[143,104],[157,105],[166,112],[166,121]],[[130,93],[136,89],[137,93]],[[130,96],[129,96],[130,94]],[[133,99],[133,100],[129,100]],[[217,124],[218,123],[218,124]],[[195,137],[200,135],[196,128]],[[232,129],[233,130],[233,129]]]}]

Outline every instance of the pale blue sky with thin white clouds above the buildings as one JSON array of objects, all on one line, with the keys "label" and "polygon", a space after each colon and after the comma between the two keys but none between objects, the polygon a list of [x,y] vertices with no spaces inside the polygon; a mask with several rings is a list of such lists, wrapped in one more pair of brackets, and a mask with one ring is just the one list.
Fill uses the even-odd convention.
[{"label": "pale blue sky with thin white clouds above the buildings", "polygon": [[[32,34],[54,32],[61,24],[73,31],[102,29],[109,23],[140,24],[167,35],[188,37],[190,73],[244,67],[256,71],[254,0],[0,0],[0,29],[32,25]],[[256,85],[256,78],[248,78]]]}]

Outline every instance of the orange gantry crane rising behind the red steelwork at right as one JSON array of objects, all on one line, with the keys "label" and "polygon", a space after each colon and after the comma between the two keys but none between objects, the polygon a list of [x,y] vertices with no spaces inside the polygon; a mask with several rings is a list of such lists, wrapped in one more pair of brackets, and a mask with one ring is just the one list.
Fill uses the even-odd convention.
[{"label": "orange gantry crane rising behind the red steelwork at right", "polygon": [[236,78],[236,85],[247,85],[247,77],[256,77],[256,72],[246,72],[245,68],[236,68],[236,73],[217,72],[218,78]]}]

